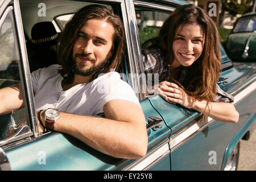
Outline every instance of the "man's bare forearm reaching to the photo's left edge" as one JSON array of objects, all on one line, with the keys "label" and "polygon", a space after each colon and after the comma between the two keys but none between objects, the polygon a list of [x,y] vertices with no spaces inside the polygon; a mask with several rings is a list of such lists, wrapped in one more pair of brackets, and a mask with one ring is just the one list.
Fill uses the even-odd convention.
[{"label": "man's bare forearm reaching to the photo's left edge", "polygon": [[0,114],[10,113],[23,106],[23,96],[20,84],[0,89]]}]

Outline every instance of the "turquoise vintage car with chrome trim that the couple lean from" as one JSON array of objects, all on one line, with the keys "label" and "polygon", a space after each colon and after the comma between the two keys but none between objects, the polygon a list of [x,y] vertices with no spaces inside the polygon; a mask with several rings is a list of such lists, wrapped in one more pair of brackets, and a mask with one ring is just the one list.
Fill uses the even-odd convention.
[{"label": "turquoise vintage car with chrome trim that the couple lean from", "polygon": [[[38,22],[52,22],[61,32],[75,10],[91,3],[109,6],[125,26],[126,55],[119,72],[134,89],[144,112],[147,154],[139,159],[117,159],[90,148],[64,133],[39,133],[31,86],[31,30]],[[24,107],[0,115],[0,169],[2,170],[235,170],[240,140],[256,127],[255,67],[234,67],[220,44],[222,73],[218,85],[234,96],[238,123],[206,118],[146,92],[141,43],[155,36],[178,0],[0,1],[1,88],[20,82]],[[143,40],[142,40],[143,39]],[[45,53],[46,54],[46,53]],[[241,59],[241,58],[240,58]],[[46,93],[47,94],[47,93]],[[129,109],[129,108],[123,108]],[[104,115],[97,115],[104,117]],[[27,121],[24,123],[23,121]]]}]

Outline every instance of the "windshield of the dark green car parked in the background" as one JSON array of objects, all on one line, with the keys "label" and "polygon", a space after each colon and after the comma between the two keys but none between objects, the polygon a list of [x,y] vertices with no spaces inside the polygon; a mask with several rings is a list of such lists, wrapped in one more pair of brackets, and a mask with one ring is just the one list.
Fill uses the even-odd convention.
[{"label": "windshield of the dark green car parked in the background", "polygon": [[250,32],[256,30],[256,15],[240,18],[233,32]]}]

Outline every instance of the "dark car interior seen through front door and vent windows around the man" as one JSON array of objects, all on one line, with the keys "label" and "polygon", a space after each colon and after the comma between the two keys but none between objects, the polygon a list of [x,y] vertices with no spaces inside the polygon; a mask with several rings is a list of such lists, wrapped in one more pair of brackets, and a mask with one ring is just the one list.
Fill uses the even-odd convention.
[{"label": "dark car interior seen through front door and vent windows around the man", "polygon": [[[39,68],[57,64],[56,43],[61,30],[76,10],[89,4],[92,3],[66,0],[19,1],[30,73]],[[105,6],[117,9],[113,3]],[[43,10],[46,10],[46,12],[43,13]],[[117,11],[117,14],[119,13],[118,10],[114,11]],[[18,40],[12,9],[8,10],[1,19],[5,20],[0,27],[0,88],[5,88],[20,82],[22,70],[19,64]],[[126,63],[125,55],[117,71],[125,73],[125,80],[128,82],[128,66]],[[4,121],[0,122],[0,141],[13,137],[15,133],[19,132],[20,125],[24,121],[29,121],[26,110],[26,107],[23,107],[11,114],[0,115],[0,121]],[[30,125],[30,122],[25,125]],[[15,129],[15,126],[19,128]]]}]

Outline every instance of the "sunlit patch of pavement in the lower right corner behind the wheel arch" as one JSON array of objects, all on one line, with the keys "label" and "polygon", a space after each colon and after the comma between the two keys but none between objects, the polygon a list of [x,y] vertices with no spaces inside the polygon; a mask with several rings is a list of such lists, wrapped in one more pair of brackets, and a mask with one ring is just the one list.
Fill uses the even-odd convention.
[{"label": "sunlit patch of pavement in the lower right corner behind the wheel arch", "polygon": [[256,171],[256,130],[249,140],[241,140],[238,171]]}]

